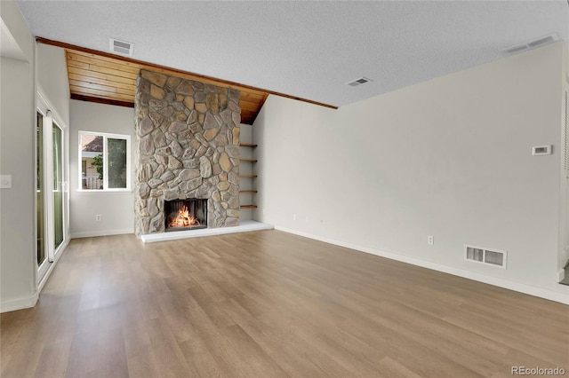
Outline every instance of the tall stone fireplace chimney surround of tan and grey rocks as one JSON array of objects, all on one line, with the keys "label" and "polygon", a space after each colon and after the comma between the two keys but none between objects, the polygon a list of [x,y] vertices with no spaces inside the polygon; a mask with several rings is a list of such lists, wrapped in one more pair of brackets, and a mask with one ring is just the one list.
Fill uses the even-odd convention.
[{"label": "tall stone fireplace chimney surround of tan and grey rocks", "polygon": [[165,231],[164,201],[203,200],[207,227],[238,225],[239,91],[141,70],[135,111],[136,234]]}]

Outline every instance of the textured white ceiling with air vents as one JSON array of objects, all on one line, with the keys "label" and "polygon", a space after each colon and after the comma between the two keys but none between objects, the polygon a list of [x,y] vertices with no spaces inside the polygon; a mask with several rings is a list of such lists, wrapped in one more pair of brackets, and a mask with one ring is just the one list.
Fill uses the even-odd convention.
[{"label": "textured white ceiling with air vents", "polygon": [[[34,35],[342,106],[501,59],[542,35],[569,40],[557,1],[18,1]],[[361,76],[373,79],[346,85]]]}]

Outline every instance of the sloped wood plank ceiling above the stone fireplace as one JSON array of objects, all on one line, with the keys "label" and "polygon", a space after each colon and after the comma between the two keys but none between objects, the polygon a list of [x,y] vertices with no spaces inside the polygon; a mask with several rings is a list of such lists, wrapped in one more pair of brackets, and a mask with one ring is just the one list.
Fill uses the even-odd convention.
[{"label": "sloped wood plank ceiling above the stone fireplace", "polygon": [[71,98],[118,106],[134,106],[136,78],[140,69],[175,75],[202,83],[241,91],[241,122],[252,124],[268,97],[268,92],[165,67],[114,59],[96,53],[66,49]]}]

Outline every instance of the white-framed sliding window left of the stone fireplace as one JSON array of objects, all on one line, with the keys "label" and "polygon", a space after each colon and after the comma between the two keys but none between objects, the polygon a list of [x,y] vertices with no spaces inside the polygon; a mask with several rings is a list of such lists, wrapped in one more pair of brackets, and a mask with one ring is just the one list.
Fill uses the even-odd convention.
[{"label": "white-framed sliding window left of the stone fireplace", "polygon": [[81,190],[131,190],[131,137],[79,131]]}]

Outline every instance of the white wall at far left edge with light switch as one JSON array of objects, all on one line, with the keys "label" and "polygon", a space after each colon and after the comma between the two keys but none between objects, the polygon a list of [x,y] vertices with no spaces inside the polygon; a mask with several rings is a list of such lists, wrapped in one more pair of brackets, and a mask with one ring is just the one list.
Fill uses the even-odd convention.
[{"label": "white wall at far left edge with light switch", "polygon": [[0,17],[27,61],[0,60],[0,174],[12,189],[0,189],[0,311],[36,303],[34,211],[34,40],[13,1],[0,2]]}]

